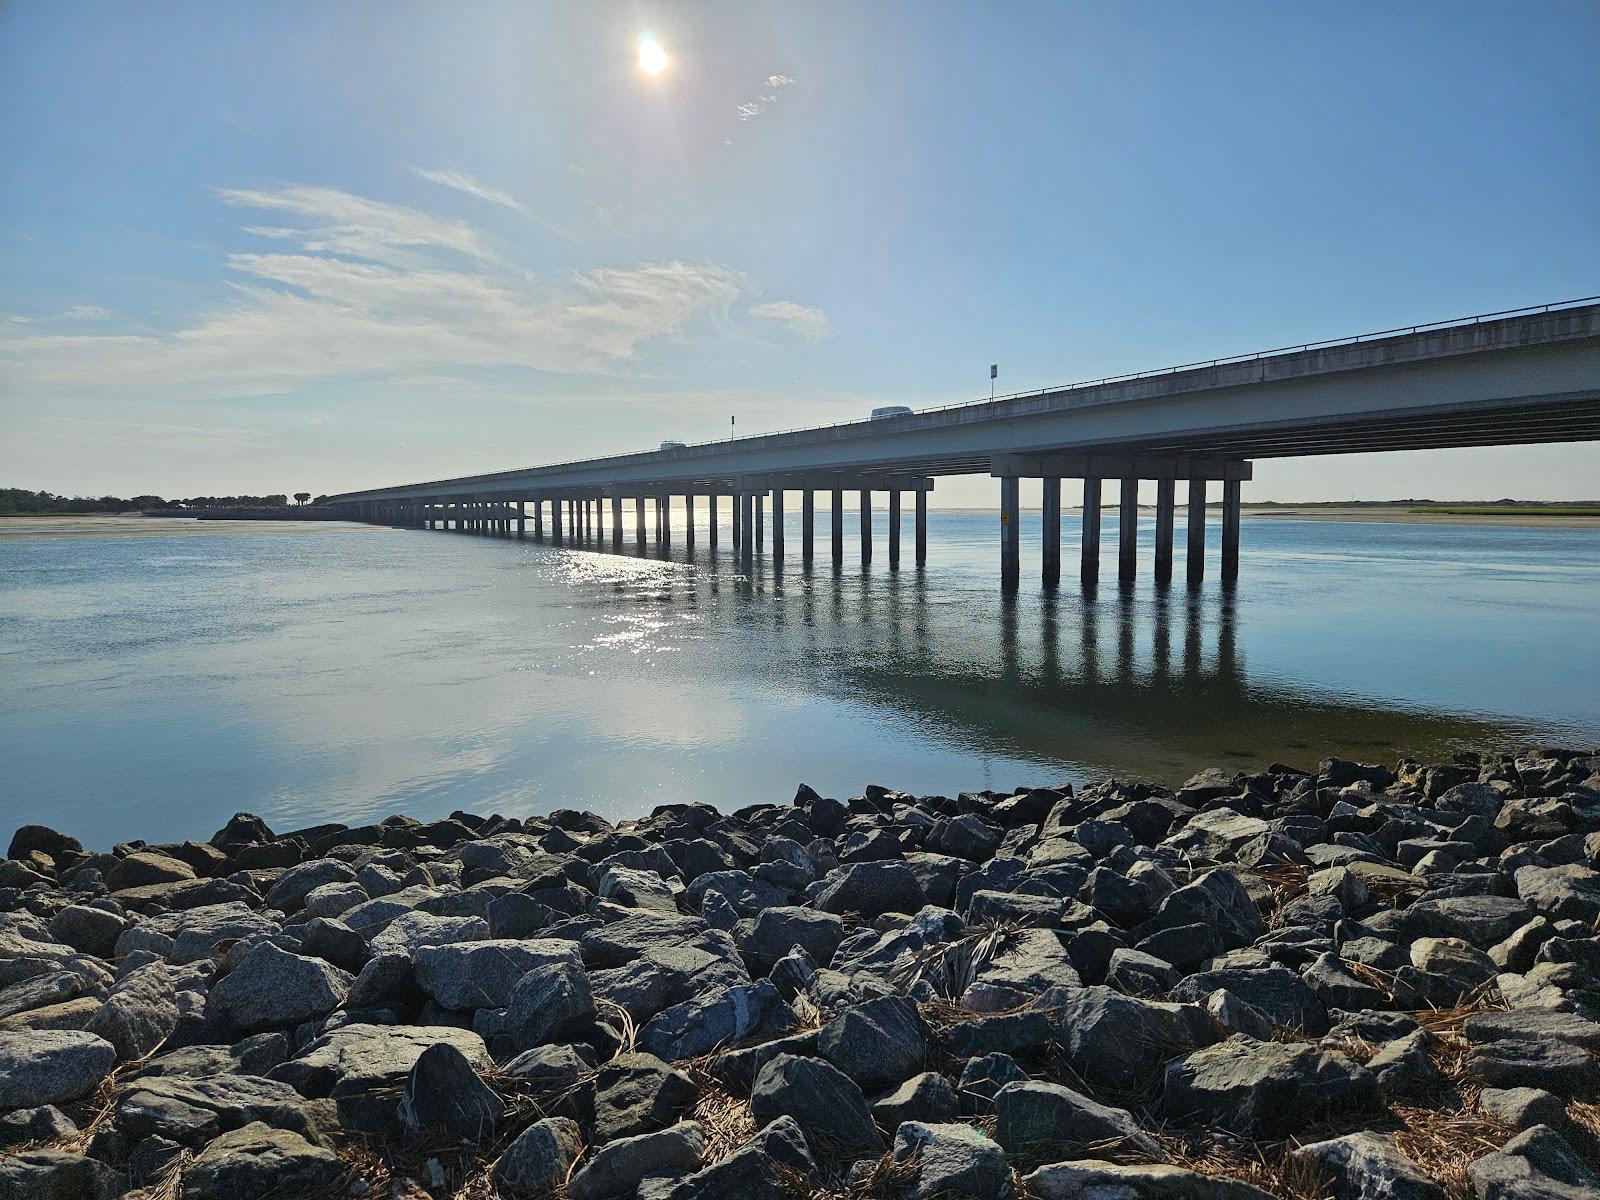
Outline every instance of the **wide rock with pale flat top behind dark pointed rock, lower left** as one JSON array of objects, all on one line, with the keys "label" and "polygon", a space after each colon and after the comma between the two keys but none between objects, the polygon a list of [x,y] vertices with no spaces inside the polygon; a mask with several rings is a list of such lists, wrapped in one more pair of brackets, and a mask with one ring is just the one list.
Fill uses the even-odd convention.
[{"label": "wide rock with pale flat top behind dark pointed rock, lower left", "polygon": [[339,1123],[360,1133],[384,1131],[395,1118],[400,1091],[429,1046],[445,1042],[466,1056],[474,1070],[493,1066],[483,1038],[448,1026],[350,1024],[323,1034],[296,1058],[274,1067],[301,1096],[333,1096]]}]

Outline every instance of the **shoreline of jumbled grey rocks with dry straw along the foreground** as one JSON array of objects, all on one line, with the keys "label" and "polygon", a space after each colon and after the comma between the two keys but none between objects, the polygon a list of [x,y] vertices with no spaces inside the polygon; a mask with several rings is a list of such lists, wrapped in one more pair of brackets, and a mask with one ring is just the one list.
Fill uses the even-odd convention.
[{"label": "shoreline of jumbled grey rocks with dry straw along the foreground", "polygon": [[0,1200],[1600,1194],[1600,754],[0,862]]}]

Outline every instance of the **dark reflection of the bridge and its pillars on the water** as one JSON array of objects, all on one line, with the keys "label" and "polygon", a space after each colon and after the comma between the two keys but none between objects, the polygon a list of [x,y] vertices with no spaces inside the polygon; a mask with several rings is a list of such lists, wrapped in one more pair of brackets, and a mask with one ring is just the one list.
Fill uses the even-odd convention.
[{"label": "dark reflection of the bridge and its pillars on the water", "polygon": [[1176,784],[1206,765],[1448,758],[1509,736],[1504,723],[1251,678],[1226,586],[1101,584],[1019,605],[970,589],[950,597],[920,573],[758,571],[754,584],[706,571],[659,602],[738,594],[742,603],[720,619],[762,632],[797,683],[893,710],[979,755]]}]

